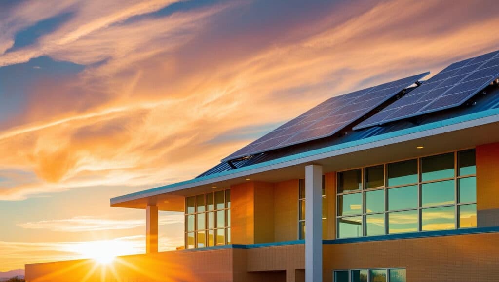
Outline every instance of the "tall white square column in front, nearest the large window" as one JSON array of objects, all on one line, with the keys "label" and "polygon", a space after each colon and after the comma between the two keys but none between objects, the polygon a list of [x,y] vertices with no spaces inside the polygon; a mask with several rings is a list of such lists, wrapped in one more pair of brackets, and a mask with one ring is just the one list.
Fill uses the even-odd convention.
[{"label": "tall white square column in front, nearest the large window", "polygon": [[322,166],[305,166],[305,282],[322,281]]}]

